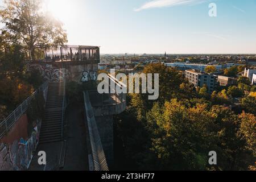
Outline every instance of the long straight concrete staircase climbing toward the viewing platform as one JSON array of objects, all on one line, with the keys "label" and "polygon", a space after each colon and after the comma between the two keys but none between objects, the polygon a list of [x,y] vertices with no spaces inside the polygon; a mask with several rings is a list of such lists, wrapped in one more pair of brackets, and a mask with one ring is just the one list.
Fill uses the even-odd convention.
[{"label": "long straight concrete staircase climbing toward the viewing platform", "polygon": [[46,101],[46,113],[40,130],[40,143],[62,140],[61,126],[63,114],[64,82],[50,82]]}]

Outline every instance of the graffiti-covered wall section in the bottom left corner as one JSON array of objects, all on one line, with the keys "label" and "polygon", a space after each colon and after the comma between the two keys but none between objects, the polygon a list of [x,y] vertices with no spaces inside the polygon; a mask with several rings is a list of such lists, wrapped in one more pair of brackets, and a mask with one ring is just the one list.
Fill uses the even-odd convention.
[{"label": "graffiti-covered wall section in the bottom left corner", "polygon": [[28,140],[20,138],[12,144],[0,144],[0,171],[19,171],[28,169],[39,142],[36,126]]}]

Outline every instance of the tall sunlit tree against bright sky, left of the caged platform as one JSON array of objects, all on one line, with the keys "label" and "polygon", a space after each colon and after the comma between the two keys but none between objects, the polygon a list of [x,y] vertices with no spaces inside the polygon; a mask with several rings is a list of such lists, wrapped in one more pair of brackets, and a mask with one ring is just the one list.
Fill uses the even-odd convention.
[{"label": "tall sunlit tree against bright sky, left of the caged platform", "polygon": [[59,46],[67,42],[62,23],[51,15],[42,13],[39,0],[6,0],[0,10],[3,30],[22,44],[35,60],[36,48]]}]

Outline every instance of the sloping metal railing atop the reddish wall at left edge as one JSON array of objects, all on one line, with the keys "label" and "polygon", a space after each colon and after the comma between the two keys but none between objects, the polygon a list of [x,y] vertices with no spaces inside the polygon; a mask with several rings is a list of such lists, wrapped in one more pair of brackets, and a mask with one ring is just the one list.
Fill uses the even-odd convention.
[{"label": "sloping metal railing atop the reddish wall at left edge", "polygon": [[27,107],[30,104],[32,98],[35,98],[36,94],[40,91],[44,92],[44,99],[46,99],[48,89],[48,81],[44,82],[38,90],[36,90],[30,97],[28,97],[22,104],[20,104],[7,118],[0,123],[0,138],[3,137],[13,127],[14,123],[27,111]]}]

